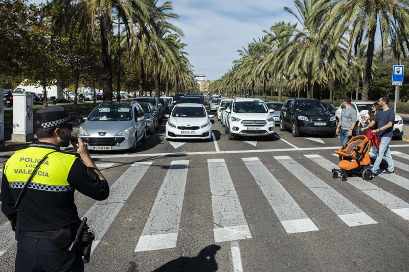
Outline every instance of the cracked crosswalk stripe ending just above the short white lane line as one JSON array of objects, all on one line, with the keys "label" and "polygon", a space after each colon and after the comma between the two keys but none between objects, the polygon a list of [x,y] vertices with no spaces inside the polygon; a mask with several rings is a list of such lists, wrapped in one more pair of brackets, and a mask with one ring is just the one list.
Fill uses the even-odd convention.
[{"label": "cracked crosswalk stripe ending just above the short white lane line", "polygon": [[224,159],[208,160],[215,242],[252,238]]}]

